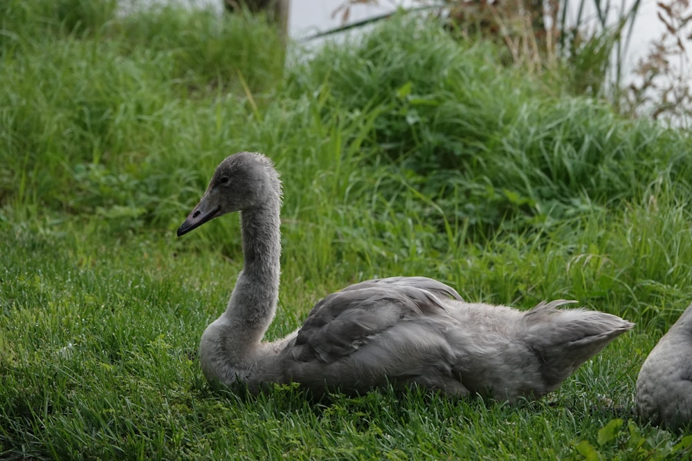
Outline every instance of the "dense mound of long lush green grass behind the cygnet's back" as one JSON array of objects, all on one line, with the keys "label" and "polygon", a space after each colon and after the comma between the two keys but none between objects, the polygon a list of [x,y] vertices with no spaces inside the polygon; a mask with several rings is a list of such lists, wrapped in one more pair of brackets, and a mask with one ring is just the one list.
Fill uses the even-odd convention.
[{"label": "dense mound of long lush green grass behind the cygnet's back", "polygon": [[639,186],[689,174],[680,133],[550,93],[504,68],[487,44],[459,43],[439,28],[388,23],[313,63],[295,93],[318,87],[349,111],[381,110],[366,145],[399,163],[446,216],[485,232],[500,223],[525,229],[582,203],[640,200]]}]

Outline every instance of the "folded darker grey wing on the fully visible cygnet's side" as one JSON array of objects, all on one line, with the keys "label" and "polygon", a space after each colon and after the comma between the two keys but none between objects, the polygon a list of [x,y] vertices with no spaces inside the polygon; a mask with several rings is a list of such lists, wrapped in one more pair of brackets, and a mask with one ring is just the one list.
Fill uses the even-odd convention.
[{"label": "folded darker grey wing on the fully visible cygnet's side", "polygon": [[293,358],[330,364],[399,321],[444,316],[441,297],[461,299],[453,288],[424,277],[392,277],[351,285],[313,308],[295,339]]}]

